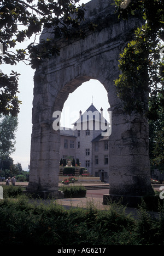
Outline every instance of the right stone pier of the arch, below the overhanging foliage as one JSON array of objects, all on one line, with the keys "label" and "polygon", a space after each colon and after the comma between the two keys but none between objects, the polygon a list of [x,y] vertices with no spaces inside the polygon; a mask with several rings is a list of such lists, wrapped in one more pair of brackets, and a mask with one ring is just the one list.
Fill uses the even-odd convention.
[{"label": "right stone pier of the arch, below the overhanging foliage", "polygon": [[141,198],[153,196],[150,183],[148,120],[142,114],[112,111],[112,135],[109,140],[109,194],[103,203],[119,201],[137,207]]}]

